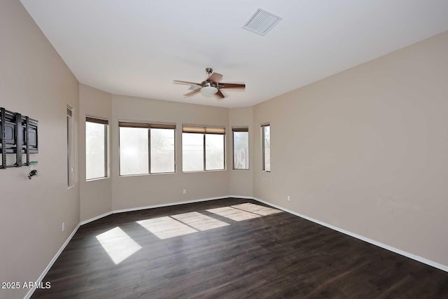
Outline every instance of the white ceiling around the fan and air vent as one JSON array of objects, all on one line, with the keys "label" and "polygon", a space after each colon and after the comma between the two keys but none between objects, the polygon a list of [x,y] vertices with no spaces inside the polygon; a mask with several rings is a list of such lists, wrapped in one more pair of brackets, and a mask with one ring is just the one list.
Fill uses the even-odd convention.
[{"label": "white ceiling around the fan and air vent", "polygon": [[[251,106],[448,30],[447,0],[21,0],[80,83],[118,95]],[[283,20],[241,27],[260,7]],[[204,69],[223,101],[183,97]]]}]

